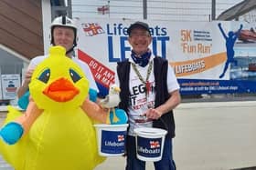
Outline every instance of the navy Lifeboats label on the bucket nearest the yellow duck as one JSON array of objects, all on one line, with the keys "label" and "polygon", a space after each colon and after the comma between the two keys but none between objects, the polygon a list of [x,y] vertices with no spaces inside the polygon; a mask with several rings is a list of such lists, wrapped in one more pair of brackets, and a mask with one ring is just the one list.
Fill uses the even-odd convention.
[{"label": "navy Lifeboats label on the bucket nearest the yellow duck", "polygon": [[101,152],[123,154],[126,131],[101,131]]}]

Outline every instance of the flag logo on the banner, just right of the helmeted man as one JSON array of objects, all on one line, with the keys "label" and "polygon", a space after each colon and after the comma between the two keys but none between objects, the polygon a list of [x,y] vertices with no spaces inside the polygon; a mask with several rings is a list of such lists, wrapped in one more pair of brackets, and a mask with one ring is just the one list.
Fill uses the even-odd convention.
[{"label": "flag logo on the banner, just right of the helmeted man", "polygon": [[82,29],[87,36],[99,35],[105,33],[98,23],[83,23]]}]

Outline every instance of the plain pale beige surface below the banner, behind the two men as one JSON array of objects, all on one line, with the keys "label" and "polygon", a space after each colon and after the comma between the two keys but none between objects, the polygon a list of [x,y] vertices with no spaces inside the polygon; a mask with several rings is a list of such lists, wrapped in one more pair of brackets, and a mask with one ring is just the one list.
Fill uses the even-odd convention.
[{"label": "plain pale beige surface below the banner, behind the two men", "polygon": [[[230,170],[256,166],[256,101],[183,103],[175,110],[177,170]],[[96,170],[122,170],[122,156]],[[0,162],[0,169],[7,170]],[[149,163],[151,170],[153,164]]]}]

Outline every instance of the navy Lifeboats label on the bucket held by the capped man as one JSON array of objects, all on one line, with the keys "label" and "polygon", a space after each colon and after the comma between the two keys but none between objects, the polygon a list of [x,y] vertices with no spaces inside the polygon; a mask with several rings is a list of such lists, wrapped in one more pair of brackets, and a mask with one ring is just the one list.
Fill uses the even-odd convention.
[{"label": "navy Lifeboats label on the bucket held by the capped man", "polygon": [[161,138],[144,138],[137,136],[137,154],[144,157],[159,157],[161,155]]}]

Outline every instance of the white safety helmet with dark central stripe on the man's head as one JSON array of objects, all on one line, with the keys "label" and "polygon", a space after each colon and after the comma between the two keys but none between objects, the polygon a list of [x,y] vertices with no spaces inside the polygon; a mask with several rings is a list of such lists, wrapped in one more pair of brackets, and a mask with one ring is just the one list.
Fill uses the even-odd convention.
[{"label": "white safety helmet with dark central stripe on the man's head", "polygon": [[73,28],[74,30],[74,42],[73,42],[73,47],[75,47],[77,45],[77,25],[75,25],[75,22],[70,19],[68,16],[66,15],[62,15],[59,17],[56,17],[51,25],[50,25],[50,44],[54,45],[54,39],[53,39],[53,30],[56,26],[63,26],[63,27],[70,27]]}]

